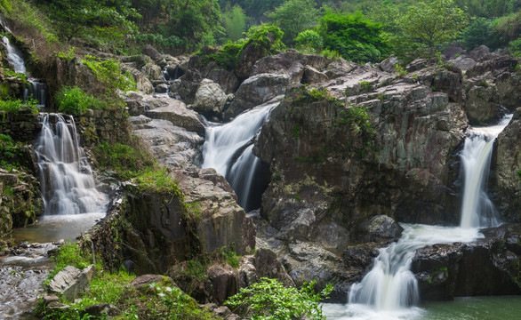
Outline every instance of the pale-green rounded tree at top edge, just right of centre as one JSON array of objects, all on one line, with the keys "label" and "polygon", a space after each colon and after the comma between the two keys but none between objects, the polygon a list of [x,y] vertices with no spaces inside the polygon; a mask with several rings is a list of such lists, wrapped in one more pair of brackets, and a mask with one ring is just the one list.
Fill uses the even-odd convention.
[{"label": "pale-green rounded tree at top edge, just right of centre", "polygon": [[317,21],[316,6],[315,0],[288,0],[267,15],[284,32],[282,41],[294,44],[295,37]]}]

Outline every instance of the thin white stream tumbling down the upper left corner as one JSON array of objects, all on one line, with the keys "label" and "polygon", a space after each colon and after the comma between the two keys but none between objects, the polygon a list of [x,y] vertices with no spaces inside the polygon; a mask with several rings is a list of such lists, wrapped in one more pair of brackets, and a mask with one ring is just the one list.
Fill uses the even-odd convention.
[{"label": "thin white stream tumbling down the upper left corner", "polygon": [[[27,75],[27,69],[25,68],[25,62],[23,60],[23,55],[20,50],[15,47],[9,41],[7,36],[2,38],[2,42],[4,43],[5,49],[7,50],[7,60],[12,64],[12,68],[14,72]],[[29,96],[38,102],[38,107],[45,106],[45,95],[46,95],[46,85],[37,79],[28,76],[28,82],[31,84],[29,89],[25,89],[22,93],[22,100],[28,100]]]}]

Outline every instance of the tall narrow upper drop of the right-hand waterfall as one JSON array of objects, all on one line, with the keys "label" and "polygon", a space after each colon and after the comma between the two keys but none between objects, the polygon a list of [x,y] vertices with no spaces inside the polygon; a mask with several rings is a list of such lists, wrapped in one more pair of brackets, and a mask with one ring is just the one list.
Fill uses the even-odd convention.
[{"label": "tall narrow upper drop of the right-hand waterfall", "polygon": [[504,116],[499,124],[470,130],[461,152],[463,170],[463,202],[461,228],[496,227],[495,208],[486,193],[493,142],[509,124],[512,115]]}]

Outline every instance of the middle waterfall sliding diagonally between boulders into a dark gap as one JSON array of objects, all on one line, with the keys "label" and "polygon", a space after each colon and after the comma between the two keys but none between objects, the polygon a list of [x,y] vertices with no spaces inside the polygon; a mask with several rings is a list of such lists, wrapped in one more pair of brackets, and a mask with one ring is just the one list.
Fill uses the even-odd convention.
[{"label": "middle waterfall sliding diagonally between boulders into a dark gap", "polygon": [[254,209],[252,196],[261,160],[253,156],[253,140],[279,101],[252,108],[228,124],[210,123],[203,146],[203,168],[214,168],[229,182],[244,210]]}]

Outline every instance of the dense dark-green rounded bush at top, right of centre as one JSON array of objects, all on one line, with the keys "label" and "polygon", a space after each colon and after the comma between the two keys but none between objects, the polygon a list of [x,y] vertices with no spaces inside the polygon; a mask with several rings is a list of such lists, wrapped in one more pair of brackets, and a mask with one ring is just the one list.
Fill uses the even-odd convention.
[{"label": "dense dark-green rounded bush at top, right of centre", "polygon": [[325,49],[339,52],[346,60],[376,62],[389,52],[381,24],[365,18],[362,12],[326,10],[317,33],[324,39]]}]

